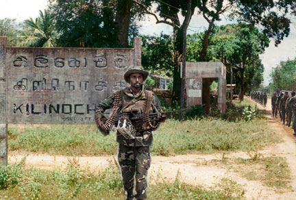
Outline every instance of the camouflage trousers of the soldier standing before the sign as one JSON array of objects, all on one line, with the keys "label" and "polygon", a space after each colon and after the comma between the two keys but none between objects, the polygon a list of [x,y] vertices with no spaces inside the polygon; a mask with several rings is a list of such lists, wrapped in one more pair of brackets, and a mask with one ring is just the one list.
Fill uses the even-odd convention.
[{"label": "camouflage trousers of the soldier standing before the sign", "polygon": [[150,147],[128,147],[119,145],[119,165],[123,188],[130,192],[134,190],[134,177],[136,177],[136,199],[147,199],[147,173],[150,168]]}]

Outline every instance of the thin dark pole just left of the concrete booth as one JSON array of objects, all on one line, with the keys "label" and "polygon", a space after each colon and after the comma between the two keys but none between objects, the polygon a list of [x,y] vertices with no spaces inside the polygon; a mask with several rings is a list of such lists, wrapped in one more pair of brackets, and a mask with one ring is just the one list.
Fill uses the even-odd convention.
[{"label": "thin dark pole just left of the concrete booth", "polygon": [[[187,16],[184,19],[184,27],[183,27],[183,53],[182,53],[182,82],[181,82],[181,97],[180,97],[180,109],[184,109],[184,101],[185,101],[185,78],[186,78],[186,47],[187,47],[187,29],[190,22],[191,17],[191,0],[188,0],[188,9]],[[180,121],[183,118],[183,112],[180,112],[179,119]]]}]

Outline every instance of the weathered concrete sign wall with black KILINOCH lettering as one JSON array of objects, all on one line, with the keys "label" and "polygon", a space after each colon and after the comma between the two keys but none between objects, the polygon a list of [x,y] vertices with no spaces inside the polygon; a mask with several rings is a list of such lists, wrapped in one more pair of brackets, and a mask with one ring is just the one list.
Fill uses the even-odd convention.
[{"label": "weathered concrete sign wall with black KILINOCH lettering", "polygon": [[8,123],[94,123],[97,103],[125,88],[140,65],[132,49],[6,48]]}]

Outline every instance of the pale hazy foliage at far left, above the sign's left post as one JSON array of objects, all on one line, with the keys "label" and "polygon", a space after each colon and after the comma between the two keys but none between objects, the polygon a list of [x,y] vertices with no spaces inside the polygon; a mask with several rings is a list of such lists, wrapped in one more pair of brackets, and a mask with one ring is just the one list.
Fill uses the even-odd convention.
[{"label": "pale hazy foliage at far left, above the sign's left post", "polygon": [[19,28],[20,27],[15,19],[0,19],[0,36],[8,37],[8,47],[16,47]]}]

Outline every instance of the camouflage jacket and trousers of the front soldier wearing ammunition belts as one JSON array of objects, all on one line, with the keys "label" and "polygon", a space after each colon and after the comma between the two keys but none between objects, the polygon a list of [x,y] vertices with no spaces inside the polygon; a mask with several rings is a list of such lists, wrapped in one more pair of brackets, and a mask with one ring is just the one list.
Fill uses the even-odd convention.
[{"label": "camouflage jacket and trousers of the front soldier wearing ammunition belts", "polygon": [[[138,110],[137,114],[143,114],[147,90],[142,86],[136,95],[131,88],[121,90],[121,110],[119,113]],[[102,114],[106,109],[112,108],[114,95],[99,103],[96,115]],[[160,101],[153,94],[150,112],[162,112]],[[97,116],[96,116],[97,117]],[[134,122],[135,123],[135,122]],[[150,146],[153,140],[151,129],[147,125],[136,126],[136,138],[126,139],[116,132],[116,141],[119,142],[118,160],[121,166],[123,187],[127,192],[134,189],[134,176],[136,175],[136,199],[147,199],[147,173],[151,163]],[[137,128],[138,127],[138,128]]]}]

